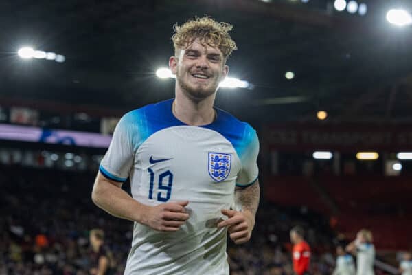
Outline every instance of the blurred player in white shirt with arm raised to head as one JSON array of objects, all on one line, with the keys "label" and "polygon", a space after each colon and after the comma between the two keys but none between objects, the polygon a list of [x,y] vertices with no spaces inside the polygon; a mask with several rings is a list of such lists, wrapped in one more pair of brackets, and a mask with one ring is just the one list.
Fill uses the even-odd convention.
[{"label": "blurred player in white shirt with arm raised to head", "polygon": [[362,229],[346,251],[356,255],[356,275],[374,275],[375,247],[372,232]]}]

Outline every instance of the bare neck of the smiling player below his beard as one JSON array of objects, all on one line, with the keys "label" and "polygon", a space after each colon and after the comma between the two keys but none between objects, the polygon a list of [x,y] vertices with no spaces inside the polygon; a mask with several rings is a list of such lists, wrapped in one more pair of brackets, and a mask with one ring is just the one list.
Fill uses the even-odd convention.
[{"label": "bare neck of the smiling player below his beard", "polygon": [[173,114],[187,125],[211,124],[216,118],[216,111],[213,108],[215,98],[216,94],[212,94],[202,100],[195,100],[176,90],[176,98],[172,107]]}]

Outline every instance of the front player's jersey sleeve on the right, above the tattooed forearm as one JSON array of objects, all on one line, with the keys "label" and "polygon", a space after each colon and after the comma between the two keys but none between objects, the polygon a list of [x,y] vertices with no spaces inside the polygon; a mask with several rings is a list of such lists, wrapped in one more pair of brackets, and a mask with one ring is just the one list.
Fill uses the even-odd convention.
[{"label": "front player's jersey sleeve on the right, above the tattooed forearm", "polygon": [[247,187],[255,183],[258,179],[258,154],[259,154],[259,139],[258,135],[249,124],[244,130],[244,146],[240,151],[240,162],[242,170],[238,174],[236,186]]}]

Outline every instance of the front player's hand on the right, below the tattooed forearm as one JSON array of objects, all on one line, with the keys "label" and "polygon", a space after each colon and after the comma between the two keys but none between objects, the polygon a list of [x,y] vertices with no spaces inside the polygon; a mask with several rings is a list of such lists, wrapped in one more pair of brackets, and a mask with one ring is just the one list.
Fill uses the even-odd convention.
[{"label": "front player's hand on the right, below the tattooed forearm", "polygon": [[228,227],[230,239],[237,245],[246,243],[251,239],[252,230],[255,226],[255,217],[249,211],[239,212],[223,209],[222,214],[228,217],[225,221],[218,223],[218,228]]}]

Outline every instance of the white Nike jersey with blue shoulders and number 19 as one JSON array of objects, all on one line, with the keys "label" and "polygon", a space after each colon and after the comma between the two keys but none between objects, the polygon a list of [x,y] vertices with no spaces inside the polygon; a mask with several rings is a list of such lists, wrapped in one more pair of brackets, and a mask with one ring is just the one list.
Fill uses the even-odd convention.
[{"label": "white Nike jersey with blue shoulders and number 19", "polygon": [[149,206],[189,201],[190,218],[177,232],[134,223],[124,274],[229,274],[227,229],[216,228],[222,209],[235,208],[235,186],[258,178],[255,130],[216,109],[205,126],[172,114],[173,100],[126,113],[117,124],[100,172],[130,178],[134,199]]}]

